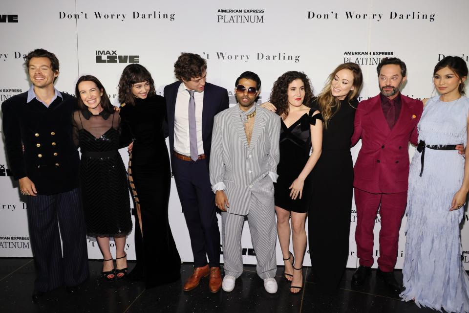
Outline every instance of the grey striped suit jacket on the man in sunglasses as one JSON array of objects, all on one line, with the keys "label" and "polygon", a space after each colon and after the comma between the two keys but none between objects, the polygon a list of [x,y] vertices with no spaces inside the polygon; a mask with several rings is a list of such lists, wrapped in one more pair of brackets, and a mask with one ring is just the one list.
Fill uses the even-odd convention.
[{"label": "grey striped suit jacket on the man in sunglasses", "polygon": [[274,198],[279,161],[280,116],[256,108],[251,143],[248,145],[239,105],[215,115],[210,156],[210,182],[223,182],[229,213],[247,215],[254,195],[265,206]]}]

